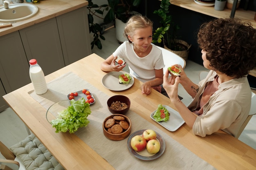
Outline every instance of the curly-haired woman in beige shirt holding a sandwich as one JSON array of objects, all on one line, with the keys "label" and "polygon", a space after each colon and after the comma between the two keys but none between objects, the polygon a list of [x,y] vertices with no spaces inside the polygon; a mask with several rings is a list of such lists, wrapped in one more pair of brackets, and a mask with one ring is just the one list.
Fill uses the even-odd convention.
[{"label": "curly-haired woman in beige shirt holding a sandwich", "polygon": [[[166,71],[163,87],[195,135],[221,129],[236,137],[251,106],[246,76],[256,66],[256,30],[239,19],[220,18],[202,24],[198,44],[203,65],[211,70],[207,77],[194,84],[183,69],[180,77],[168,78]],[[193,98],[188,107],[177,97],[179,83]]]}]

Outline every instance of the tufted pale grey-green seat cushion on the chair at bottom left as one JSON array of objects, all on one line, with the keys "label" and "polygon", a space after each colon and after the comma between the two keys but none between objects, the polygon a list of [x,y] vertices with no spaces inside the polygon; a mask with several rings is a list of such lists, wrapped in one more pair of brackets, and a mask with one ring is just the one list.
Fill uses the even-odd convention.
[{"label": "tufted pale grey-green seat cushion on the chair at bottom left", "polygon": [[10,147],[26,170],[64,170],[34,134]]}]

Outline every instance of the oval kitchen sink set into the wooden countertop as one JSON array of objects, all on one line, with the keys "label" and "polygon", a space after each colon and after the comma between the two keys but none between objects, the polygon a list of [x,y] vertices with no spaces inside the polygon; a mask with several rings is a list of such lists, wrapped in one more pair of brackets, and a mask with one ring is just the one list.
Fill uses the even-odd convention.
[{"label": "oval kitchen sink set into the wooden countertop", "polygon": [[0,7],[0,22],[14,22],[31,18],[38,12],[38,7],[34,4],[9,4],[8,9]]}]

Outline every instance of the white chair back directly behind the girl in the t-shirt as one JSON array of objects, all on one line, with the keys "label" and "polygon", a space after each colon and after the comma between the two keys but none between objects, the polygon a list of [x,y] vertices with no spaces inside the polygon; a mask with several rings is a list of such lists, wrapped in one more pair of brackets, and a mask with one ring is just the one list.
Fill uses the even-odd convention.
[{"label": "white chair back directly behind the girl in the t-shirt", "polygon": [[182,66],[182,68],[184,69],[186,66],[186,61],[180,57],[179,55],[168,51],[160,46],[157,46],[157,48],[162,50],[162,54],[163,54],[163,59],[164,59],[164,73],[166,71],[166,69],[170,66],[172,66],[173,64],[180,64]]}]

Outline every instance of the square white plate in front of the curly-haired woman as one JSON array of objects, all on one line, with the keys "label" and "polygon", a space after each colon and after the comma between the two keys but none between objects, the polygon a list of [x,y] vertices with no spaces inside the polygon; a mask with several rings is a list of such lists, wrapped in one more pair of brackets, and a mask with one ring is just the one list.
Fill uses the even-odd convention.
[{"label": "square white plate in front of the curly-haired woman", "polygon": [[[180,116],[180,113],[178,113],[176,110],[174,110],[173,108],[167,105],[162,105],[162,106],[168,110],[168,112],[170,113],[170,116],[168,121],[161,121],[161,122],[156,121],[158,124],[162,125],[167,130],[173,132],[178,128],[180,128],[180,126],[182,126],[185,123],[185,121]],[[150,115],[151,119],[153,120],[155,120],[153,115],[155,114],[156,111],[157,109]]]}]

